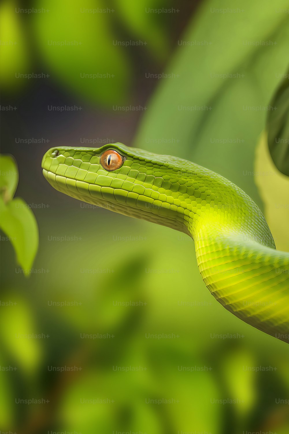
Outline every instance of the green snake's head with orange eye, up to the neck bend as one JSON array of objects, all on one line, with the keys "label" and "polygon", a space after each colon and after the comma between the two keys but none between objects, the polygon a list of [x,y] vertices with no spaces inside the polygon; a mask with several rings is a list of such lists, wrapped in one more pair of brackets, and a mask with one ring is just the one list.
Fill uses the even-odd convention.
[{"label": "green snake's head with orange eye, up to the neck bend", "polygon": [[188,233],[184,208],[194,188],[178,161],[184,160],[121,143],[60,146],[45,153],[42,171],[52,187],[71,197]]}]

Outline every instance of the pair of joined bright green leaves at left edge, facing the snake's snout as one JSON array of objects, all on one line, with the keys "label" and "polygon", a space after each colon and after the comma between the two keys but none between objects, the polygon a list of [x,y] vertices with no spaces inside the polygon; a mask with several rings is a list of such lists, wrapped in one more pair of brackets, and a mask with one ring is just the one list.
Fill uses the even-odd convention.
[{"label": "pair of joined bright green leaves at left edge, facing the snake's snout", "polygon": [[22,198],[13,199],[18,169],[11,155],[0,155],[0,170],[0,228],[13,244],[17,262],[29,276],[38,249],[37,222]]}]

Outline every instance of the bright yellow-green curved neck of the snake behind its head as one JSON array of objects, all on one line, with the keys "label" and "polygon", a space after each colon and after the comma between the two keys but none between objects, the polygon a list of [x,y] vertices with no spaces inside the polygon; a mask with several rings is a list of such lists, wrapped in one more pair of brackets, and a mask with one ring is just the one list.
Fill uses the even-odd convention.
[{"label": "bright yellow-green curved neck of the snake behind its head", "polygon": [[288,343],[289,253],[276,250],[263,214],[250,197],[237,187],[233,190],[226,212],[220,213],[214,204],[188,222],[198,269],[227,310]]}]

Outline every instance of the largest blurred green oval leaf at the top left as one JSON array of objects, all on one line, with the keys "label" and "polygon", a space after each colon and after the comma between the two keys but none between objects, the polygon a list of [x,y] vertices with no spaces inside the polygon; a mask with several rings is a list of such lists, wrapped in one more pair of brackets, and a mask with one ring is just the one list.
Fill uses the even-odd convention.
[{"label": "largest blurred green oval leaf at the top left", "polygon": [[115,45],[109,18],[113,12],[100,12],[104,7],[109,8],[97,0],[52,0],[49,12],[39,13],[34,23],[39,53],[52,79],[111,109],[127,100],[130,65],[126,48]]}]

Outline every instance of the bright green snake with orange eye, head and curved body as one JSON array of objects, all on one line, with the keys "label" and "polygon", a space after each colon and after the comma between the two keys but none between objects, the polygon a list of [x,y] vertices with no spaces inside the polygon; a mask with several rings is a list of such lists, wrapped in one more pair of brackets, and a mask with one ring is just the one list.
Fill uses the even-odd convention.
[{"label": "bright green snake with orange eye, head and curved body", "polygon": [[289,343],[289,253],[232,182],[190,161],[121,143],[51,148],[43,174],[56,190],[188,234],[211,294],[248,324]]}]

